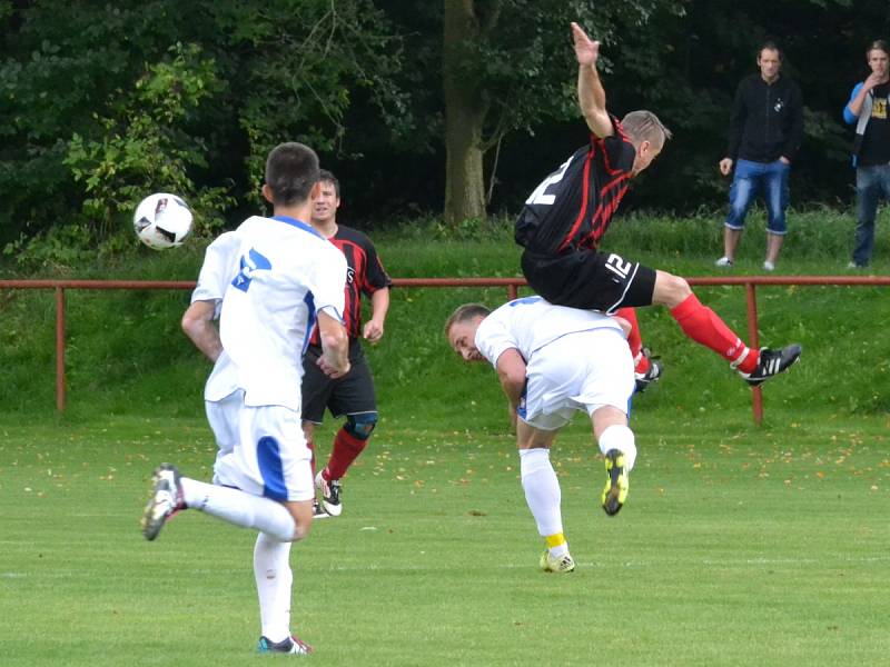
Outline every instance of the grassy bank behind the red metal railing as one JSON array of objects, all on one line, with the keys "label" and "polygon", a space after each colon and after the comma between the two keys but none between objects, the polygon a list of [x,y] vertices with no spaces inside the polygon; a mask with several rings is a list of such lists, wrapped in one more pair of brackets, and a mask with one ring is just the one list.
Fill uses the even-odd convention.
[{"label": "grassy bank behind the red metal railing", "polygon": [[[844,267],[853,233],[850,211],[793,211],[790,236],[779,271],[791,275],[851,275]],[[680,276],[724,275],[713,261],[721,252],[722,213],[676,219],[627,216],[613,225],[607,249]],[[517,276],[520,248],[510,221],[463,226],[451,236],[428,221],[373,233],[394,277]],[[734,275],[760,273],[763,212],[754,210],[742,238]],[[129,261],[47,271],[46,276],[77,278],[195,279],[202,259],[198,245],[157,253],[146,250]],[[890,273],[890,211],[882,210],[872,272]],[[739,287],[696,288],[733,329],[746,338],[744,290]],[[484,371],[452,381],[441,327],[458,303],[484,300],[496,306],[505,289],[397,289],[387,334],[369,351],[380,395],[396,399],[398,409],[412,400],[447,405],[482,382]],[[70,418],[162,414],[199,416],[197,397],[208,372],[179,330],[188,293],[67,292],[67,374]],[[881,390],[890,372],[887,349],[890,319],[887,288],[760,287],[762,345],[800,341],[804,364],[795,380],[777,396],[784,407],[805,406],[848,415],[882,414],[890,397]],[[0,410],[46,416],[55,406],[53,298],[49,291],[0,291]],[[664,309],[640,311],[644,341],[663,357],[671,385],[654,407],[695,410],[746,401],[748,394],[712,352],[689,342]],[[850,372],[850,369],[857,372]],[[674,379],[672,379],[674,378]],[[689,382],[684,379],[701,381]],[[768,401],[768,409],[774,401]],[[436,408],[434,408],[436,409]]]}]

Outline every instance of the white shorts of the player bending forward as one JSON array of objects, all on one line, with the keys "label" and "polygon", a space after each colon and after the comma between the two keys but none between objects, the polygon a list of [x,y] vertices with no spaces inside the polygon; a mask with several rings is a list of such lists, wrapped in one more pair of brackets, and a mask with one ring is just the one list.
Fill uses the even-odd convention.
[{"label": "white shorts of the player bending forward", "polygon": [[633,358],[617,329],[600,328],[557,338],[532,354],[525,371],[520,418],[541,430],[556,430],[574,412],[593,415],[603,406],[630,414]]}]

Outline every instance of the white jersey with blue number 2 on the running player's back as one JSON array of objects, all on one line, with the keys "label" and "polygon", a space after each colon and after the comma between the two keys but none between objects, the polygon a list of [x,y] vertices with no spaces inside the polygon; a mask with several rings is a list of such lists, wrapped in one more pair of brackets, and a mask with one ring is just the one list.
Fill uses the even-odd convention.
[{"label": "white jersey with blue number 2 on the running player's back", "polygon": [[235,233],[239,267],[222,299],[222,347],[245,405],[299,412],[303,352],[317,313],[343,321],[346,259],[294,218],[254,216]]}]

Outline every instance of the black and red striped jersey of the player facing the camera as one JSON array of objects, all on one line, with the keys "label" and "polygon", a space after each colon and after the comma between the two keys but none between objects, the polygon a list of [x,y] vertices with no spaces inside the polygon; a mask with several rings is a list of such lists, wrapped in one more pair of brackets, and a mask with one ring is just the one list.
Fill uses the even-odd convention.
[{"label": "black and red striped jersey of the player facing the camera", "polygon": [[[346,257],[346,303],[344,325],[350,339],[362,336],[362,295],[369,297],[378,289],[389,288],[392,278],[383,268],[370,239],[352,227],[337,225],[337,233],[328,240]],[[313,331],[310,345],[319,345],[318,327]]]}]

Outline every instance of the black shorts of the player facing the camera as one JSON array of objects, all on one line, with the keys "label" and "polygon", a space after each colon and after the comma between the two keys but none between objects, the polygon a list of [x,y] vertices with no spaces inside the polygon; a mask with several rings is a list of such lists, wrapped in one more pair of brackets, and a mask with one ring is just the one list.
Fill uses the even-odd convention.
[{"label": "black shorts of the player facing the camera", "polygon": [[349,345],[352,368],[342,378],[332,379],[322,372],[316,361],[322,348],[309,346],[303,358],[303,420],[322,424],[325,408],[334,417],[376,412],[377,396],[370,367],[362,351],[362,345],[354,340]]}]

